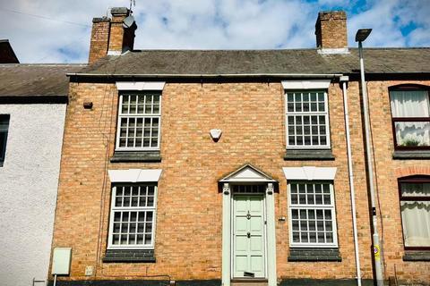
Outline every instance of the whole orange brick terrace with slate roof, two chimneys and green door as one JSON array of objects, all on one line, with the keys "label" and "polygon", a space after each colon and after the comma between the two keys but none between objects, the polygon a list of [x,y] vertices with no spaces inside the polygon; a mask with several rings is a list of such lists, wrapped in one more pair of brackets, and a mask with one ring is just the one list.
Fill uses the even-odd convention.
[{"label": "whole orange brick terrace with slate roof, two chimneys and green door", "polygon": [[57,285],[373,285],[372,211],[384,280],[430,281],[430,48],[365,49],[372,210],[345,13],[316,48],[229,51],[135,50],[111,13],[68,74]]}]

